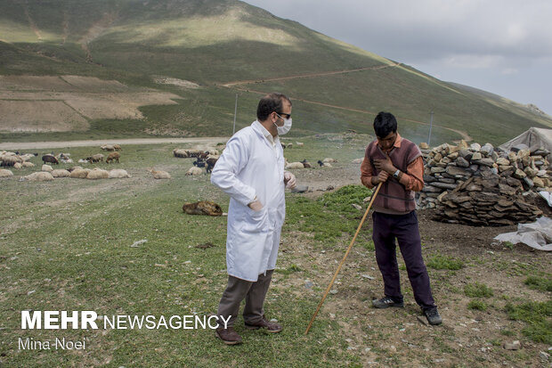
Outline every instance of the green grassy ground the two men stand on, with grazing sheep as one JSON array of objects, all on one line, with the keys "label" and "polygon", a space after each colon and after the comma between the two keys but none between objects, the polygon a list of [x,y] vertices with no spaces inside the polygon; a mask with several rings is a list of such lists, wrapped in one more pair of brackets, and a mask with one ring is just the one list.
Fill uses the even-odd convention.
[{"label": "green grassy ground the two men stand on, with grazing sheep", "polygon": [[[331,149],[339,160],[335,165],[338,169],[352,165],[350,159],[361,155],[368,140],[369,137],[354,135],[313,136],[304,139],[304,148],[287,150],[286,156],[290,161],[313,160]],[[546,302],[550,292],[546,287],[534,288],[533,284],[549,279],[552,270],[549,264],[546,266],[546,259],[535,259],[529,252],[515,249],[462,256],[456,251],[449,254],[434,242],[426,245],[424,240],[445,326],[429,329],[416,322],[418,310],[413,305],[404,266],[400,268],[410,303],[404,310],[373,312],[369,300],[381,292],[382,285],[369,225],[363,228],[337,279],[337,293],[329,295],[313,329],[304,336],[361,217],[351,204],[366,206],[363,199],[369,191],[359,185],[317,197],[287,193],[280,256],[265,303],[269,318],[278,319],[285,327],[280,334],[246,331],[240,316],[237,331],[244,344],[237,347],[224,346],[215,339],[213,331],[201,329],[21,330],[22,310],[93,310],[99,315],[167,318],[215,313],[227,278],[226,217],[184,215],[182,205],[187,201],[215,200],[227,210],[229,199],[209,183],[208,176],[185,176],[191,159],[172,157],[174,148],[174,144],[129,145],[123,147],[118,165],[87,165],[125,168],[133,176],[127,179],[58,178],[48,183],[17,180],[37,167],[13,170],[16,177],[1,181],[4,195],[0,206],[4,210],[0,213],[0,362],[7,366],[333,367],[363,366],[369,362],[411,366],[416,361],[440,366],[436,360],[444,357],[458,366],[484,366],[505,360],[519,365],[535,363],[538,349],[550,344]],[[100,150],[79,147],[63,151],[78,159]],[[153,179],[146,171],[152,167],[169,171],[172,179]],[[311,170],[332,175],[331,169]],[[132,247],[142,240],[147,241]],[[198,247],[205,244],[213,246]],[[512,258],[517,263],[513,264]],[[479,276],[487,269],[495,270],[492,272],[499,282],[508,279],[519,286],[513,290],[504,285],[491,287],[489,282],[496,280]],[[376,280],[367,279],[369,274]],[[491,316],[485,316],[481,323],[489,319],[499,323],[499,330],[463,329],[461,323],[481,318],[476,315],[481,313],[477,309],[481,306],[475,308],[473,303],[467,303],[467,291],[462,286],[466,282],[470,285],[466,290],[477,286],[475,293],[469,294],[476,297],[481,290],[495,290],[494,294],[485,294],[485,313]],[[528,299],[533,300],[534,306],[525,303]],[[532,307],[539,315],[530,318],[527,311]],[[484,328],[483,324],[472,325],[477,330]],[[408,332],[401,332],[403,329]],[[525,350],[507,354],[499,345],[490,345],[494,347],[492,351],[480,351],[485,341],[505,336],[523,340]],[[20,338],[56,337],[85,339],[86,350],[18,349]],[[463,346],[468,341],[476,349],[459,348],[458,341]],[[427,350],[410,348],[411,344]],[[533,348],[527,344],[533,344]]]}]

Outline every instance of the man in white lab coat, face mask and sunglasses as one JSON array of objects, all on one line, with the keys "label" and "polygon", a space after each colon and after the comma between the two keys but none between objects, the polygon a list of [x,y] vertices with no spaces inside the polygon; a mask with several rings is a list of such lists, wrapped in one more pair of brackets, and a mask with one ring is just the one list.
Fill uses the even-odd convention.
[{"label": "man in white lab coat, face mask and sunglasses", "polygon": [[[233,324],[245,298],[246,328],[280,332],[279,323],[264,316],[264,297],[276,266],[280,231],[286,216],[284,188],[296,177],[284,171],[279,135],[291,127],[291,102],[284,94],[267,94],[257,106],[257,119],[226,143],[211,175],[211,183],[230,195],[226,266],[228,286],[217,315],[216,336],[227,345],[241,343]],[[226,327],[226,328],[224,328]]]}]

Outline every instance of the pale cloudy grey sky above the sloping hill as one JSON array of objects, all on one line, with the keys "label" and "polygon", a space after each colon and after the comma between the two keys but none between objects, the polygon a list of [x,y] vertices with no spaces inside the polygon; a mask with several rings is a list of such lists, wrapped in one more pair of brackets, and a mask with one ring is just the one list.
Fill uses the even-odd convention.
[{"label": "pale cloudy grey sky above the sloping hill", "polygon": [[435,78],[552,116],[550,0],[246,0]]}]

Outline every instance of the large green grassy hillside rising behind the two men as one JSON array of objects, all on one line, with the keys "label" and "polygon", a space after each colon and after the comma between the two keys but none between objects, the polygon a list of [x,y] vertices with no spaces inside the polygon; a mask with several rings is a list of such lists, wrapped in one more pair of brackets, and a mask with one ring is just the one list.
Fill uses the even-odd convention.
[{"label": "large green grassy hillside rising behind the two men", "polygon": [[[27,125],[35,130],[18,131],[8,117],[0,119],[2,140],[231,135],[236,93],[237,126],[244,127],[255,119],[259,96],[271,91],[294,102],[290,135],[371,133],[369,122],[379,110],[394,112],[402,135],[418,142],[427,140],[431,110],[432,143],[459,139],[458,131],[478,142],[502,143],[528,127],[552,127],[550,117],[520,104],[442,82],[235,0],[4,0],[0,77],[28,75],[117,80],[129,91],[155,89],[172,102],[132,104],[132,98],[118,98],[126,91],[107,94],[95,82],[47,94],[37,81],[0,78],[4,110],[17,115],[12,101],[55,94],[88,122],[48,132],[55,129],[46,123],[41,128],[36,109],[36,117],[25,115],[35,119]],[[121,109],[136,109],[139,119],[130,119],[130,112],[91,113],[84,105],[98,99],[100,106],[124,101]]]}]

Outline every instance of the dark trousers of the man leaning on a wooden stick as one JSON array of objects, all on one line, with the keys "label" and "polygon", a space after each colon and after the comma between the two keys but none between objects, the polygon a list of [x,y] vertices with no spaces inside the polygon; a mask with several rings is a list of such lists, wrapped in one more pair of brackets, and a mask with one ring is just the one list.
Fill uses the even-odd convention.
[{"label": "dark trousers of the man leaning on a wooden stick", "polygon": [[406,215],[374,212],[372,218],[374,220],[372,239],[376,247],[377,266],[384,279],[386,297],[402,301],[401,279],[395,251],[396,239],[399,242],[416,302],[424,310],[435,307],[429,275],[422,258],[416,211]]}]

